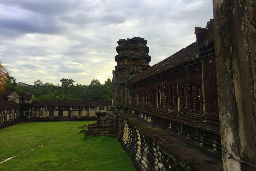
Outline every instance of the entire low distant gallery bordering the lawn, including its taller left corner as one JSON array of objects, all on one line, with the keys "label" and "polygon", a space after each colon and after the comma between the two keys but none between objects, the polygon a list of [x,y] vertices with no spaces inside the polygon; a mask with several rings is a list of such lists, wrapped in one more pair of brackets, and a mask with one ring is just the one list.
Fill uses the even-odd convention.
[{"label": "entire low distant gallery bordering the lawn, including its taller left corner", "polygon": [[112,100],[32,101],[31,92],[7,92],[0,100],[0,128],[18,122],[96,120]]}]

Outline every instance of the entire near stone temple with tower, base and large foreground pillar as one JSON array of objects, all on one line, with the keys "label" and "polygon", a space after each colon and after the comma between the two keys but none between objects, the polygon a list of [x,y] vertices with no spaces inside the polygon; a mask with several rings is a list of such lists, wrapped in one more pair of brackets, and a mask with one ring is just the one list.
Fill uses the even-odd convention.
[{"label": "entire near stone temple with tower, base and large foreground pillar", "polygon": [[85,136],[118,138],[137,170],[254,170],[223,149],[256,164],[255,5],[214,1],[214,17],[151,67],[144,38],[120,39],[114,104]]}]

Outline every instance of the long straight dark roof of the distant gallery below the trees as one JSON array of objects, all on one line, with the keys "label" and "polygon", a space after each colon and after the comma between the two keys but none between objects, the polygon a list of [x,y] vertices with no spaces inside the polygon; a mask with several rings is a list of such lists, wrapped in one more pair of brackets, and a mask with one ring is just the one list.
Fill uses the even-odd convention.
[{"label": "long straight dark roof of the distant gallery below the trees", "polygon": [[35,100],[31,106],[111,106],[112,100]]}]

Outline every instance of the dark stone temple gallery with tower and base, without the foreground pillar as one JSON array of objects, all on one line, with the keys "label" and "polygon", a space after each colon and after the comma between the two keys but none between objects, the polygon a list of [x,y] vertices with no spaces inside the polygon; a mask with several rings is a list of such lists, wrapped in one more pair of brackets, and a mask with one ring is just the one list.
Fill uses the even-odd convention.
[{"label": "dark stone temple gallery with tower and base, without the foreground pillar", "polygon": [[114,105],[94,129],[117,137],[138,170],[222,170],[212,28],[151,67],[144,38],[117,42]]}]

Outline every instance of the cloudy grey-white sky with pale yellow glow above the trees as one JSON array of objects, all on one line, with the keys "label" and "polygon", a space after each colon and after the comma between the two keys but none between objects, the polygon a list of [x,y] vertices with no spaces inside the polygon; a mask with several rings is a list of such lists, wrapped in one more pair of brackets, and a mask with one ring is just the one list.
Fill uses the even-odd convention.
[{"label": "cloudy grey-white sky with pale yellow glow above the trees", "polygon": [[1,0],[0,61],[17,82],[112,79],[118,39],[143,37],[150,65],[195,41],[212,0]]}]

